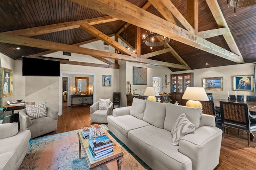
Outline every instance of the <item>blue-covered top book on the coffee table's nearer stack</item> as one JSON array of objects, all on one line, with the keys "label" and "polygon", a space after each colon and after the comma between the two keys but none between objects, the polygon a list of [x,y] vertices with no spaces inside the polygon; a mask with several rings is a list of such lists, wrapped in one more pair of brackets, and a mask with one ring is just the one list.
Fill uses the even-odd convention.
[{"label": "blue-covered top book on the coffee table's nearer stack", "polygon": [[93,151],[113,145],[113,142],[107,135],[90,138],[88,139],[88,142]]}]

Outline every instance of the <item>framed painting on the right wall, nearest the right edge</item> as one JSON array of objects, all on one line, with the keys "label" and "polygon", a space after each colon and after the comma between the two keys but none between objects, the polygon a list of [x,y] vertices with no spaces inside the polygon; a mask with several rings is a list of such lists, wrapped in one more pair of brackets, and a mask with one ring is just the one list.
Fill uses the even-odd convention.
[{"label": "framed painting on the right wall, nearest the right edge", "polygon": [[254,79],[253,75],[246,76],[233,76],[233,90],[241,90],[241,91],[253,91],[254,87]]}]

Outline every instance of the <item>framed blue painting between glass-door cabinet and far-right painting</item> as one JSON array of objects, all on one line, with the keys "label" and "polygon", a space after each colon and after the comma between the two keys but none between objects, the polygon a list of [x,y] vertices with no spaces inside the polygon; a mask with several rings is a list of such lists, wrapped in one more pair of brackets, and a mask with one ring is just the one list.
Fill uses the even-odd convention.
[{"label": "framed blue painting between glass-door cabinet and far-right painting", "polygon": [[205,90],[223,90],[222,77],[203,78],[203,87]]}]

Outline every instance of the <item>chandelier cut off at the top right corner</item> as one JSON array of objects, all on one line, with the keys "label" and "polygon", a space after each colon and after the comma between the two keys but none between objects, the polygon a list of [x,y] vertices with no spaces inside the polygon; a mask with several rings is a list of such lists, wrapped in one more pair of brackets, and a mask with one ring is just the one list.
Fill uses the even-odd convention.
[{"label": "chandelier cut off at the top right corner", "polygon": [[237,16],[236,8],[243,8],[256,4],[256,0],[227,0],[227,6],[234,8],[234,16]]}]

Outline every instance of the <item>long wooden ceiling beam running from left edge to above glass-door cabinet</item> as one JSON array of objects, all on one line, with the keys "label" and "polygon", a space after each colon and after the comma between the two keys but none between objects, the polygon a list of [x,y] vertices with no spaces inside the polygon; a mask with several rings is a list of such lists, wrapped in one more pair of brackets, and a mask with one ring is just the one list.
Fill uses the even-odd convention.
[{"label": "long wooden ceiling beam running from left edge to above glass-door cabinet", "polygon": [[[173,67],[173,68],[180,68],[189,70],[188,66],[174,64],[174,63],[167,63],[162,61],[150,60],[150,59],[143,59],[141,57],[132,57],[128,55],[121,55],[116,53],[110,53],[106,51],[98,51],[94,49],[87,49],[83,47],[78,47],[74,45],[67,45],[62,43],[55,43],[52,41],[45,41],[40,39],[34,39],[30,37],[23,37],[18,35],[11,35],[9,33],[0,33],[0,42],[1,43],[9,43],[9,44],[16,44],[16,45],[24,45],[29,47],[37,47],[42,49],[49,49],[55,51],[64,51],[70,53],[77,53],[82,55],[90,55],[95,57],[104,57],[109,59],[118,59],[122,61],[130,61],[130,62],[137,62],[137,63],[145,63],[145,64],[152,64],[152,65],[159,65],[159,66],[166,66],[166,67]],[[71,62],[71,61],[70,61]]]}]

